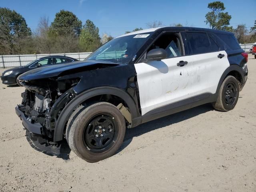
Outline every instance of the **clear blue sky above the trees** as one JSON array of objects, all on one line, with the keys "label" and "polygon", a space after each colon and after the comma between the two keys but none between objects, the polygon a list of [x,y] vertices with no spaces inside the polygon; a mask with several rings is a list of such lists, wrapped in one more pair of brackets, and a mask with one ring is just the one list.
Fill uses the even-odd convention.
[{"label": "clear blue sky above the trees", "polygon": [[[212,0],[214,1],[214,0]],[[56,12],[69,10],[82,20],[90,19],[100,29],[112,36],[124,34],[136,27],[146,28],[146,23],[160,20],[164,25],[181,23],[183,26],[208,28],[204,22],[208,0],[1,0],[7,7],[22,14],[28,26],[35,30],[41,16],[54,20]],[[105,2],[107,2],[105,4]],[[256,0],[222,0],[225,12],[231,14],[231,26],[246,24],[248,29],[256,20]]]}]

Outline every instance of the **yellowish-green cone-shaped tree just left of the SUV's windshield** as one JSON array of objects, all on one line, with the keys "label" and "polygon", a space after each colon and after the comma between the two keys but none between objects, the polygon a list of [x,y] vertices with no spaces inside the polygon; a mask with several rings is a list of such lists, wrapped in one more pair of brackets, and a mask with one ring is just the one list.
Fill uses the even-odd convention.
[{"label": "yellowish-green cone-shaped tree just left of the SUV's windshield", "polygon": [[99,28],[91,20],[86,20],[80,34],[79,44],[84,51],[94,51],[101,45]]}]

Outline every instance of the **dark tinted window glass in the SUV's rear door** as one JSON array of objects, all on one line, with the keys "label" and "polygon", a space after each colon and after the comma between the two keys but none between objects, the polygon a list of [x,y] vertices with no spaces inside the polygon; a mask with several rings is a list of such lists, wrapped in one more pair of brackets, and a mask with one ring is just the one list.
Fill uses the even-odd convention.
[{"label": "dark tinted window glass in the SUV's rear door", "polygon": [[187,32],[192,54],[212,52],[212,48],[206,33]]}]

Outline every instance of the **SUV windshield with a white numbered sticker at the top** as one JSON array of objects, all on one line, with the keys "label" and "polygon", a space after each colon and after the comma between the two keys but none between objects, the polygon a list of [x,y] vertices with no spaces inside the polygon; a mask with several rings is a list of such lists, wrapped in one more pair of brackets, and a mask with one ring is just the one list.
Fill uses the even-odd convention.
[{"label": "SUV windshield with a white numbered sticker at the top", "polygon": [[102,45],[85,60],[101,60],[126,64],[135,60],[136,53],[152,32],[114,38]]}]

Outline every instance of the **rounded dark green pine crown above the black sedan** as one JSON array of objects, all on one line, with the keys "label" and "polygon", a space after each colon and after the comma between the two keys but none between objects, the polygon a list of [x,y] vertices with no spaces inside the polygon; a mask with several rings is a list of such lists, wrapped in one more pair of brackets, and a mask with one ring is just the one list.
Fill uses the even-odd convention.
[{"label": "rounded dark green pine crown above the black sedan", "polygon": [[60,10],[56,13],[51,28],[57,35],[66,35],[74,32],[79,36],[82,28],[82,21],[70,11]]}]

